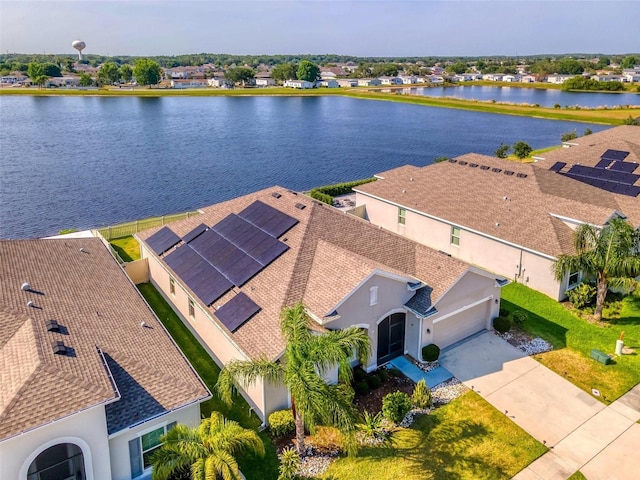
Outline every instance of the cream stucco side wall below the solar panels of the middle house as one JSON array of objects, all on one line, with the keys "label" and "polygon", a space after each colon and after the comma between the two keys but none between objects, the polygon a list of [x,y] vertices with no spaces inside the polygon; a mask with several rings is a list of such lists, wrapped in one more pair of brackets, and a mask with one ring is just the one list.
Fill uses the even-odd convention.
[{"label": "cream stucco side wall below the solar panels of the middle house", "polygon": [[[215,362],[223,367],[232,359],[248,360],[246,355],[229,338],[228,334],[209,317],[206,310],[193,298],[195,315],[189,316],[189,294],[182,288],[178,280],[175,281],[175,294],[170,293],[169,272],[158,261],[155,254],[150,253],[141,244],[142,258],[149,262],[149,276],[158,291],[172,305],[174,311],[181,317],[183,323],[192,331],[200,343],[207,349]],[[264,421],[268,415],[265,409],[265,395],[263,382],[258,380],[253,385],[239,389],[242,396],[249,402],[258,416]]]}]

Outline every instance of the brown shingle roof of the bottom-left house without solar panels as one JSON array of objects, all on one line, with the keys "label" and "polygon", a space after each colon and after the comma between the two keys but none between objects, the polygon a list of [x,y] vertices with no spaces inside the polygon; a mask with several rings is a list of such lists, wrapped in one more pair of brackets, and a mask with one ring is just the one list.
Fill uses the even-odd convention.
[{"label": "brown shingle roof of the bottom-left house without solar panels", "polygon": [[0,438],[99,404],[113,433],[209,395],[98,239],[0,241],[0,332]]}]

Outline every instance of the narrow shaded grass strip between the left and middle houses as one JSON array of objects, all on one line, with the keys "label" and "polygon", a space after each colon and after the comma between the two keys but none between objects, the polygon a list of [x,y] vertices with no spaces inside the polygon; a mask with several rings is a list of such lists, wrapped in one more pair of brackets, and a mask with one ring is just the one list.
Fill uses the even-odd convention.
[{"label": "narrow shaded grass strip between the left and middle houses", "polygon": [[[220,372],[218,365],[195,339],[191,331],[182,323],[180,318],[152,284],[144,283],[138,285],[138,289],[182,352],[189,359],[193,368],[195,368],[204,383],[209,387],[209,390],[213,392],[213,386],[218,380],[218,373]],[[204,402],[200,410],[205,417],[209,416],[212,410],[222,412],[225,417],[239,422],[240,425],[245,428],[257,429],[260,426],[260,420],[255,414],[249,413],[249,405],[240,396],[235,398],[231,407],[227,407],[214,393],[213,398]],[[266,432],[260,433],[260,438],[262,438],[264,442],[267,452],[266,456],[264,458],[239,460],[240,469],[248,480],[269,480],[275,479],[278,476],[279,460],[273,442]]]}]

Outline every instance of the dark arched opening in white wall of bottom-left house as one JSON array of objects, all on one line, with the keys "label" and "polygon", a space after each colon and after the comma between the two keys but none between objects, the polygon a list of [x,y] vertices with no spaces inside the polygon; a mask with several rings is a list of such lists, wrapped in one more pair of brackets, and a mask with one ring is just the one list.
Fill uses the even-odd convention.
[{"label": "dark arched opening in white wall of bottom-left house", "polygon": [[59,443],[41,452],[29,465],[27,480],[85,480],[84,456],[79,446]]}]

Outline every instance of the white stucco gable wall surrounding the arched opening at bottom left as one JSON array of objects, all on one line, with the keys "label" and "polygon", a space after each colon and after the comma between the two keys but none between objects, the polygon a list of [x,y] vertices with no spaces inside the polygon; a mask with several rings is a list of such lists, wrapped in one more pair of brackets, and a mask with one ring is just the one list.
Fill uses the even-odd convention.
[{"label": "white stucco gable wall surrounding the arched opening at bottom left", "polygon": [[81,448],[87,480],[111,479],[104,406],[0,442],[0,478],[26,480],[31,462],[47,448],[60,443],[74,443]]}]

